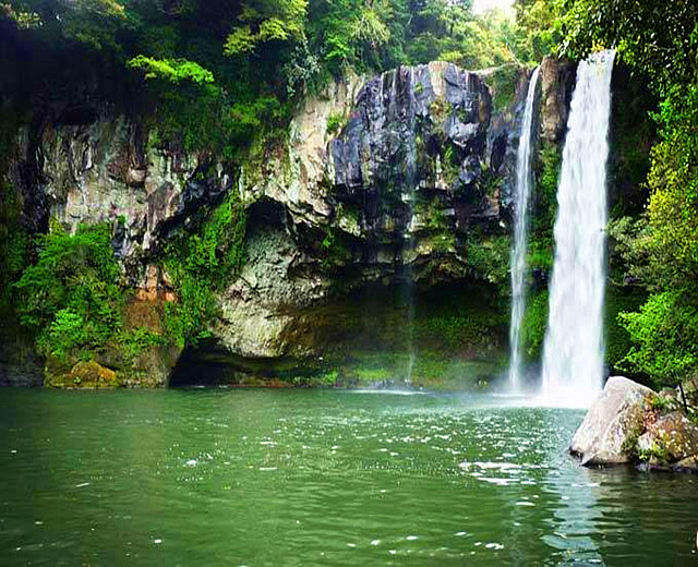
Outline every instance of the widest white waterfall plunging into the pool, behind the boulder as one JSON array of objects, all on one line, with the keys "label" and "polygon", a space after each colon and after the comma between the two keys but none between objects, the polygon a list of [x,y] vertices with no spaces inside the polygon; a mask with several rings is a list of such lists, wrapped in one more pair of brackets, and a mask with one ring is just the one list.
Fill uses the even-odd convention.
[{"label": "widest white waterfall plunging into the pool, behind the boulder", "polygon": [[543,399],[587,407],[603,379],[606,160],[614,52],[579,63],[557,189]]}]

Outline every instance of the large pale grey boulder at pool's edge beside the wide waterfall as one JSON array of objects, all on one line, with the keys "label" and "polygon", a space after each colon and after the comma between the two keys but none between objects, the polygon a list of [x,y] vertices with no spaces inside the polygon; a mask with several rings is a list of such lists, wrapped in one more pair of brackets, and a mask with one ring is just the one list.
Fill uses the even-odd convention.
[{"label": "large pale grey boulder at pool's edge beside the wide waterfall", "polygon": [[609,378],[575,433],[570,453],[587,466],[628,462],[628,445],[642,432],[645,400],[652,395],[631,379]]}]

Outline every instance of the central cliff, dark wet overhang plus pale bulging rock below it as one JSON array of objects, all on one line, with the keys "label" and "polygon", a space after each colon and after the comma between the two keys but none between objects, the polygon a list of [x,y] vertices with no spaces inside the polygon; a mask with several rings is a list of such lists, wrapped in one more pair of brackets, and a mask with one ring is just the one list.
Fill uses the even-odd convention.
[{"label": "central cliff, dark wet overhang plus pale bulging rock below it", "polygon": [[[308,310],[368,284],[503,282],[527,87],[526,71],[506,71],[497,83],[430,63],[309,99],[285,147],[243,176],[249,254],[224,298],[222,345],[302,357],[316,350],[318,326],[338,333]],[[495,88],[509,93],[498,109]]]}]

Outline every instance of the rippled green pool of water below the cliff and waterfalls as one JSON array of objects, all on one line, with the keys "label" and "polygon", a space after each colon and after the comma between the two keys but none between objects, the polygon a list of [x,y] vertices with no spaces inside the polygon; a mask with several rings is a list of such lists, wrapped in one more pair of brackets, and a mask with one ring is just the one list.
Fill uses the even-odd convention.
[{"label": "rippled green pool of water below the cliff and waterfalls", "polygon": [[3,564],[698,558],[695,478],[582,469],[565,450],[581,411],[503,403],[425,393],[3,391]]}]

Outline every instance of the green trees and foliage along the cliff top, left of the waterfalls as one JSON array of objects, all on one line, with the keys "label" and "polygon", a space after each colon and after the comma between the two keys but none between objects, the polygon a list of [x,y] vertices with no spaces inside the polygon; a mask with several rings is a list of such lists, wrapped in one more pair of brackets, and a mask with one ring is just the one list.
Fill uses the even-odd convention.
[{"label": "green trees and foliage along the cliff top, left of the waterfalls", "polygon": [[435,59],[485,68],[530,61],[540,51],[515,21],[476,17],[466,0],[15,0],[0,7],[14,48],[43,53],[35,69],[13,79],[23,83],[15,91],[35,92],[47,76],[61,89],[79,84],[74,69],[53,64],[60,55],[80,61],[83,72],[108,76],[117,88],[103,94],[115,102],[145,88],[140,98],[157,109],[161,144],[230,158],[280,128],[304,93],[348,69]]}]

